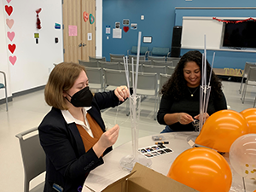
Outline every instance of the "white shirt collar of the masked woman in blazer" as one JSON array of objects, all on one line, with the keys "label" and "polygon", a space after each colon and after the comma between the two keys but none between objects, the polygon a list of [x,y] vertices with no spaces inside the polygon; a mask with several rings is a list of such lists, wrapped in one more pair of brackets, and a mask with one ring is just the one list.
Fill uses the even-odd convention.
[{"label": "white shirt collar of the masked woman in blazer", "polygon": [[88,120],[86,118],[86,114],[87,114],[87,111],[90,109],[91,107],[89,108],[83,108],[83,113],[84,113],[84,120],[85,120],[85,125],[84,125],[84,122],[79,120],[79,119],[75,119],[73,117],[73,115],[71,113],[69,113],[68,110],[61,110],[61,113],[64,117],[64,119],[66,120],[67,124],[71,124],[71,123],[75,123],[75,124],[78,124],[78,125],[81,125],[84,130],[86,130],[88,132],[88,134],[90,135],[90,137],[93,137],[93,134],[92,134],[92,131],[90,129],[90,125],[88,123]]}]

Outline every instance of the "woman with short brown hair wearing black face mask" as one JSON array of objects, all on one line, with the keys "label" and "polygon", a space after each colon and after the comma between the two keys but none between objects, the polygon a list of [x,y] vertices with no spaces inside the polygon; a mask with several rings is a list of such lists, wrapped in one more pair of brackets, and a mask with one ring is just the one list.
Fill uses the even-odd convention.
[{"label": "woman with short brown hair wearing black face mask", "polygon": [[63,62],[49,74],[44,96],[52,107],[38,127],[46,154],[44,192],[81,191],[119,135],[119,125],[106,131],[101,110],[124,102],[129,90],[120,86],[93,96],[84,67]]}]

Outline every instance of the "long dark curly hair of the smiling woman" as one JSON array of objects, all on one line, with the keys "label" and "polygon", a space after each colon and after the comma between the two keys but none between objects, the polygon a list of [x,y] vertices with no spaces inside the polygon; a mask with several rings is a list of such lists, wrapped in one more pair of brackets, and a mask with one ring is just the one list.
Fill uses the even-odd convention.
[{"label": "long dark curly hair of the smiling woman", "polygon": [[[202,54],[198,50],[190,50],[186,54],[184,54],[180,61],[177,63],[177,67],[175,68],[174,73],[166,84],[163,85],[160,90],[161,94],[172,95],[176,101],[179,101],[184,98],[184,93],[187,90],[187,81],[184,79],[183,68],[188,61],[195,61],[195,63],[200,67],[202,67]],[[207,61],[207,84],[209,81],[209,75],[211,73],[211,66]],[[222,96],[222,84],[220,79],[215,75],[212,71],[211,77],[211,95],[218,96],[220,98]]]}]

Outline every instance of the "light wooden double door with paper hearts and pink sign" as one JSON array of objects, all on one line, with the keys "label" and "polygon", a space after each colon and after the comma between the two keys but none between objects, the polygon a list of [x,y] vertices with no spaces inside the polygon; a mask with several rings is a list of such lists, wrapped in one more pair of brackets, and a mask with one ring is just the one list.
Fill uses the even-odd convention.
[{"label": "light wooden double door with paper hearts and pink sign", "polygon": [[95,56],[95,4],[95,0],[63,0],[64,61],[78,63]]}]

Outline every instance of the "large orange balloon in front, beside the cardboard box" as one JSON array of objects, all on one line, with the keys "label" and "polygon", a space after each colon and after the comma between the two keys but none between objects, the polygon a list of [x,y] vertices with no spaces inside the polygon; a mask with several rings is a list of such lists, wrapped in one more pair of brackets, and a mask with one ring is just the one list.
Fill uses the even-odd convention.
[{"label": "large orange balloon in front, beside the cardboard box", "polygon": [[179,154],[167,177],[201,192],[228,192],[232,183],[229,164],[210,148],[189,148]]}]

